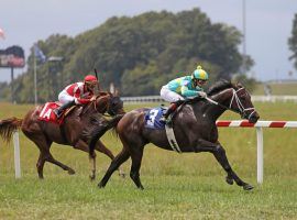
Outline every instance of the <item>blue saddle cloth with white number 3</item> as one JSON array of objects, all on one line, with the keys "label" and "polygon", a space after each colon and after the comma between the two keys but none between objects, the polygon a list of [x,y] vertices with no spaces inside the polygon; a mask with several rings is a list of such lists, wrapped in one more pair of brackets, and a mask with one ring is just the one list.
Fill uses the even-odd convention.
[{"label": "blue saddle cloth with white number 3", "polygon": [[166,109],[158,107],[146,111],[145,128],[158,130],[165,129],[165,122],[160,121],[161,117],[163,116],[163,111],[165,110]]}]

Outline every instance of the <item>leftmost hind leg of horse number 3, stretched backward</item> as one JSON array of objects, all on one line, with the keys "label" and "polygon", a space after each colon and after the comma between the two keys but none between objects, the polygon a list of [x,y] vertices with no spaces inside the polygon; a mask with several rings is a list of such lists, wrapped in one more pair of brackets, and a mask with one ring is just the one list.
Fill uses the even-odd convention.
[{"label": "leftmost hind leg of horse number 3, stretched backward", "polygon": [[112,160],[106,175],[103,176],[101,182],[98,184],[98,187],[103,188],[107,185],[113,172],[118,169],[120,165],[124,163],[129,157],[130,157],[130,153],[128,152],[125,147],[123,147],[122,151],[114,157],[114,160]]}]

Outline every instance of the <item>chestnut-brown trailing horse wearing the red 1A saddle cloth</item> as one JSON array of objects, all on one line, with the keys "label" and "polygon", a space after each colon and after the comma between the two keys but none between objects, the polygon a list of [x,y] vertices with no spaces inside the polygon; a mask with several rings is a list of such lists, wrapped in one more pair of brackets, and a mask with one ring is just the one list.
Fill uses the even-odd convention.
[{"label": "chestnut-brown trailing horse wearing the red 1A saddle cloth", "polygon": [[[82,107],[77,106],[65,118],[62,125],[38,120],[43,106],[37,106],[30,110],[24,119],[6,119],[0,121],[0,135],[4,141],[11,140],[12,133],[20,129],[33,141],[40,148],[40,157],[36,164],[38,177],[43,178],[43,167],[45,162],[50,162],[67,170],[68,174],[75,174],[75,170],[65,164],[58,162],[50,152],[53,142],[58,144],[70,145],[74,148],[88,152],[87,130],[96,125],[103,118],[102,113],[108,112],[110,116],[123,114],[123,102],[118,96],[110,92],[100,92],[96,100]],[[118,123],[121,117],[114,117],[111,121]],[[84,132],[85,131],[85,132]],[[96,150],[106,154],[111,160],[114,158],[111,151],[99,141],[95,146]],[[96,175],[96,161],[92,161],[90,178]]]}]

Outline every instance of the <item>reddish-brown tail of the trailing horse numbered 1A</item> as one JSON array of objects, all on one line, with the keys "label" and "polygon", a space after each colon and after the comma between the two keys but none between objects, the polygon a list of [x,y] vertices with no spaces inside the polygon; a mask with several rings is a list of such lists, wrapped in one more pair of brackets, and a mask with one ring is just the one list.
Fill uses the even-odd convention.
[{"label": "reddish-brown tail of the trailing horse numbered 1A", "polygon": [[9,143],[13,132],[22,125],[23,120],[16,118],[0,120],[0,136],[4,142]]}]

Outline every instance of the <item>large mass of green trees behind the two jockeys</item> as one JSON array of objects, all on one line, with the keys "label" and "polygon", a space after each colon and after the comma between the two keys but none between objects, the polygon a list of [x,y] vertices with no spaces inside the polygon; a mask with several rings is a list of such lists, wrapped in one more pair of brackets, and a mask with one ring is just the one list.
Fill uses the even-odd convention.
[{"label": "large mass of green trees behind the two jockeys", "polygon": [[[230,79],[253,65],[239,52],[242,35],[234,26],[212,23],[198,8],[178,13],[146,12],[113,16],[75,37],[53,34],[37,42],[43,53],[63,62],[37,63],[38,101],[56,100],[66,85],[97,68],[101,87],[111,82],[121,96],[157,95],[168,80],[189,75],[200,64],[210,82]],[[16,102],[34,102],[33,47],[28,70],[13,81]],[[244,74],[244,73],[243,73]],[[249,82],[244,75],[241,76]],[[9,85],[1,84],[9,100]]]}]

